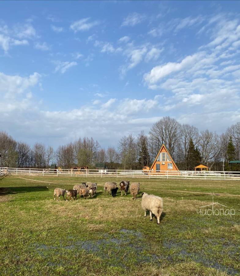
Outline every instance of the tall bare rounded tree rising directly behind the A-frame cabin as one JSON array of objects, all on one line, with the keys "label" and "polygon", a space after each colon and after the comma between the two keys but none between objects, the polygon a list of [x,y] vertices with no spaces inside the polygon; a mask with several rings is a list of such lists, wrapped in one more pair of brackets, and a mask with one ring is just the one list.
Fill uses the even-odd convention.
[{"label": "tall bare rounded tree rising directly behind the A-frame cabin", "polygon": [[170,155],[176,150],[180,124],[174,118],[163,117],[153,124],[149,134],[151,140],[158,146],[165,144]]}]

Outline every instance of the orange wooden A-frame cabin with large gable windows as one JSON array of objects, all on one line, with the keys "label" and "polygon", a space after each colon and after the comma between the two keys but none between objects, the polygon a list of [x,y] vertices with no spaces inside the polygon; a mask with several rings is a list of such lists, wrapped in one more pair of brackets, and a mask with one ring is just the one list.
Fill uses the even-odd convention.
[{"label": "orange wooden A-frame cabin with large gable windows", "polygon": [[179,171],[177,165],[174,163],[171,155],[169,154],[164,144],[160,148],[157,157],[152,163],[150,171]]}]

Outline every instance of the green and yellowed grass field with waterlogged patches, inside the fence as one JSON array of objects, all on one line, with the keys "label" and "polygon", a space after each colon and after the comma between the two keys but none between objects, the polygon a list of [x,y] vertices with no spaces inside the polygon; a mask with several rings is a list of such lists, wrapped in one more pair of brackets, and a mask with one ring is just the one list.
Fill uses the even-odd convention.
[{"label": "green and yellowed grass field with waterlogged patches, inside the fence", "polygon": [[[240,275],[238,181],[135,178],[133,201],[103,195],[119,178],[0,179],[1,275]],[[86,181],[94,198],[53,201],[54,188]],[[143,191],[163,198],[160,225],[144,218]],[[197,213],[213,200],[235,215]]]}]

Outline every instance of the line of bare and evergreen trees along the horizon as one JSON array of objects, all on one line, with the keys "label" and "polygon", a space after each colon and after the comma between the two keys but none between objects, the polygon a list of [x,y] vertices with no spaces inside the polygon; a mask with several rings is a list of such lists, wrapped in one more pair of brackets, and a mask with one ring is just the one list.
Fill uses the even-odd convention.
[{"label": "line of bare and evergreen trees along the horizon", "polygon": [[95,168],[96,163],[106,163],[109,169],[142,169],[151,166],[162,144],[165,144],[179,170],[194,170],[201,164],[209,170],[239,170],[240,122],[231,125],[221,135],[209,130],[199,131],[188,124],[180,124],[171,117],[163,117],[154,123],[146,135],[141,131],[122,136],[116,147],[101,148],[93,138],[79,138],[55,151],[51,146],[36,142],[32,147],[14,140],[0,131],[1,166],[49,167],[57,163],[62,168],[73,166]]}]

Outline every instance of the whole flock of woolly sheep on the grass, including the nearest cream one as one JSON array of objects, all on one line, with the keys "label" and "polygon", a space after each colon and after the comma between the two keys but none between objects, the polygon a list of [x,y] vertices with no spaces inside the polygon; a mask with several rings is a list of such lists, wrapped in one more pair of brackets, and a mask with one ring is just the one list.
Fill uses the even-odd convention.
[{"label": "whole flock of woolly sheep on the grass, including the nearest cream one", "polygon": [[[116,197],[118,187],[116,182],[106,182],[104,184],[104,195],[106,192],[108,195],[112,195],[112,197]],[[127,195],[128,189],[130,191],[130,194],[132,195],[132,199],[137,199],[137,194],[140,191],[140,183],[133,182],[129,183],[129,181],[121,181],[119,184],[120,190],[121,190],[121,196],[122,192],[124,192],[125,195]],[[97,191],[97,183],[92,182],[83,182],[82,184],[77,184],[73,186],[72,190],[66,190],[61,188],[56,188],[54,190],[54,201],[57,199],[59,201],[60,196],[63,197],[65,200],[64,195],[66,194],[66,201],[72,200],[75,198],[77,200],[77,194],[79,195],[79,199],[81,196],[83,198],[94,197],[96,195]],[[149,211],[150,220],[152,221],[152,214],[156,216],[157,223],[160,224],[160,217],[163,212],[163,199],[161,197],[158,197],[153,194],[147,194],[142,193],[142,201],[141,201],[141,207],[144,210],[144,217],[147,216],[147,211]]]}]

